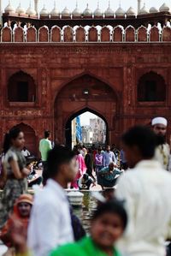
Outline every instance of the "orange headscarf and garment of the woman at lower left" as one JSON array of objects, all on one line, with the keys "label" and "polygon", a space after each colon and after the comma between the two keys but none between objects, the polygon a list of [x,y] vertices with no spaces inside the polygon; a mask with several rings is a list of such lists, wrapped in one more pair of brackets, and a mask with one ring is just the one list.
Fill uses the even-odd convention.
[{"label": "orange headscarf and garment of the woman at lower left", "polygon": [[0,231],[0,239],[3,241],[3,244],[5,244],[7,247],[13,246],[10,234],[11,234],[11,230],[14,227],[14,223],[16,222],[22,225],[24,230],[24,235],[26,235],[26,238],[27,238],[27,227],[28,227],[29,217],[21,217],[21,214],[18,209],[18,205],[21,202],[29,203],[30,205],[32,205],[32,195],[21,194],[21,196],[15,202],[13,213],[9,216],[8,221],[5,223],[5,225],[3,226],[3,229]]}]

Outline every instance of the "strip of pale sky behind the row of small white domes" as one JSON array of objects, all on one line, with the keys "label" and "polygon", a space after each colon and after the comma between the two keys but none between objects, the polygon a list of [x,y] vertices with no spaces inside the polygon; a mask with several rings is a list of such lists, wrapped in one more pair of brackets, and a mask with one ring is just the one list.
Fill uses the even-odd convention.
[{"label": "strip of pale sky behind the row of small white domes", "polygon": [[[8,5],[9,0],[1,0],[3,9]],[[89,3],[89,7],[92,11],[94,11],[97,8],[97,2],[99,1],[99,6],[101,9],[105,10],[108,7],[109,0],[56,0],[56,6],[57,8],[62,11],[65,6],[68,7],[71,11],[74,10],[76,1],[78,2],[80,10],[84,10],[86,7],[86,3]],[[17,8],[19,3],[21,2],[21,6],[24,8],[28,8],[29,3],[32,3],[33,7],[33,0],[10,0],[11,4]],[[162,3],[167,3],[171,7],[171,1],[170,0],[142,0],[142,3],[146,4],[147,8],[150,8],[151,6],[155,6],[156,8],[159,8]],[[116,10],[119,6],[120,0],[110,0],[110,6],[112,9]],[[39,0],[39,9],[42,9],[43,5],[45,4],[46,8],[48,10],[53,9],[54,6],[54,0]],[[130,6],[133,6],[135,10],[137,10],[137,0],[121,0],[121,7],[125,10],[127,10]]]}]

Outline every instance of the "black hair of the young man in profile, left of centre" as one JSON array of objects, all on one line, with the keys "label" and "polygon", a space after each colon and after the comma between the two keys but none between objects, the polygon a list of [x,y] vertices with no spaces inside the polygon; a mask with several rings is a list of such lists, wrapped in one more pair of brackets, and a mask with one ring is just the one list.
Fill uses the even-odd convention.
[{"label": "black hair of the young man in profile, left of centre", "polygon": [[72,152],[66,146],[56,145],[48,153],[47,158],[47,170],[46,174],[48,178],[53,178],[58,173],[60,166],[62,164],[68,164],[75,156],[75,153]]}]

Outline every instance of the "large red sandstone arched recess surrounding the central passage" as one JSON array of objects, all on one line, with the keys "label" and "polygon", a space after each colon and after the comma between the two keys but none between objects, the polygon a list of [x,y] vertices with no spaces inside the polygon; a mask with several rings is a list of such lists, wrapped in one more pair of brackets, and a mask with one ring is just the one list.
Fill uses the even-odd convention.
[{"label": "large red sandstone arched recess surrounding the central passage", "polygon": [[[108,142],[115,141],[118,128],[118,97],[112,86],[92,74],[82,74],[62,86],[54,105],[54,129],[56,142],[70,144],[66,128],[74,116],[90,110],[103,118],[108,126]],[[69,137],[70,134],[69,134]]]}]

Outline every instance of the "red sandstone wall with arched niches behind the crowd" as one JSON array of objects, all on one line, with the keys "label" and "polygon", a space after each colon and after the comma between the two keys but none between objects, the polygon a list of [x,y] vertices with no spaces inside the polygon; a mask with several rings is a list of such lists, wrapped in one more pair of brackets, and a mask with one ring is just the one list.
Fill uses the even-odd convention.
[{"label": "red sandstone wall with arched niches behind the crowd", "polygon": [[[149,123],[152,116],[168,118],[171,132],[171,47],[161,44],[0,44],[3,62],[0,73],[0,140],[15,124],[24,123],[33,129],[35,141],[43,137],[44,129],[53,131],[52,140],[64,142],[65,124],[74,111],[89,107],[97,110],[109,123],[109,143],[119,141],[121,133],[137,123]],[[22,70],[32,75],[37,86],[37,102],[29,105],[7,100],[7,84],[12,74]],[[139,104],[137,84],[141,75],[154,71],[161,74],[167,85],[164,104]],[[83,75],[109,86],[115,94],[114,104],[105,104],[102,98],[74,100],[70,84]],[[80,90],[89,86],[90,80],[80,82]],[[96,86],[95,82],[95,86]],[[67,86],[68,94],[58,100],[59,92]],[[76,86],[76,84],[75,84]],[[75,91],[77,92],[77,91]],[[80,91],[81,92],[81,91]],[[107,95],[107,96],[106,96]],[[61,102],[61,103],[60,103]],[[72,104],[71,104],[72,103]],[[61,111],[60,111],[61,109]],[[64,113],[64,115],[62,115]],[[29,142],[30,143],[30,142]]]}]

